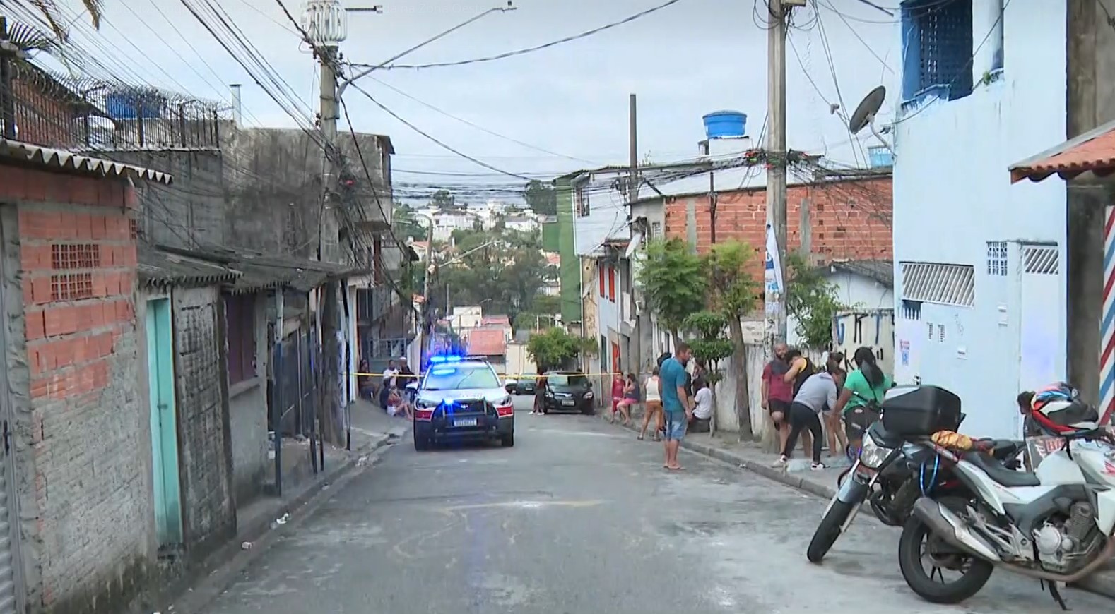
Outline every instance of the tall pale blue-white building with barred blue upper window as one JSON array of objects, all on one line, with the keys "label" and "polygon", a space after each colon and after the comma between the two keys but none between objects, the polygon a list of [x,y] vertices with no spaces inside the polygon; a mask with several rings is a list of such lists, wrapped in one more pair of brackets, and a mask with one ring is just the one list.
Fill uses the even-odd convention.
[{"label": "tall pale blue-white building with barred blue upper window", "polygon": [[1066,187],[1004,170],[1065,139],[1066,6],[1002,4],[904,2],[895,28],[894,369],[958,393],[966,433],[1015,437],[1019,390],[1066,372]]}]

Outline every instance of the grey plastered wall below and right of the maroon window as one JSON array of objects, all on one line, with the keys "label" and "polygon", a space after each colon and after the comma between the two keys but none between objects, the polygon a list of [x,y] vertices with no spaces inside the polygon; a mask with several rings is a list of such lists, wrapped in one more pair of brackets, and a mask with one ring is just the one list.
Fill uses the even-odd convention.
[{"label": "grey plastered wall below and right of the maroon window", "polygon": [[[237,506],[263,494],[268,468],[268,293],[255,294],[255,377],[229,387],[232,479]],[[226,376],[227,377],[227,376]]]}]

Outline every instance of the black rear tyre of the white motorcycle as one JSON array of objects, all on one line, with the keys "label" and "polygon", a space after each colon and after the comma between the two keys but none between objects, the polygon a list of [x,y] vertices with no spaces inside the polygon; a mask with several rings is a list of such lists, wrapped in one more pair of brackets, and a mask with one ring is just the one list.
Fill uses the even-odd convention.
[{"label": "black rear tyre of the white motorcycle", "polygon": [[[956,506],[959,509],[963,509],[964,505],[962,499],[942,499],[942,503],[950,509],[954,508],[954,504],[959,504]],[[899,568],[911,591],[930,603],[951,605],[968,600],[983,588],[991,577],[991,572],[995,571],[995,565],[977,556],[961,555],[962,562],[968,567],[956,582],[938,582],[927,574],[921,561],[921,545],[928,538],[932,538],[929,526],[911,515],[899,538]]]}]

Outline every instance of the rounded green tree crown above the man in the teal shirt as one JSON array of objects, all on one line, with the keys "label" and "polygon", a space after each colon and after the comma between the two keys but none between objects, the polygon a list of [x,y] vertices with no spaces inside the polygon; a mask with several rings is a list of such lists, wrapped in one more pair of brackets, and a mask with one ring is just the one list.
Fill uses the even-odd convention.
[{"label": "rounded green tree crown above the man in the teal shirt", "polygon": [[639,270],[639,285],[648,306],[670,331],[675,344],[685,319],[705,306],[708,282],[700,256],[680,238],[651,241]]}]

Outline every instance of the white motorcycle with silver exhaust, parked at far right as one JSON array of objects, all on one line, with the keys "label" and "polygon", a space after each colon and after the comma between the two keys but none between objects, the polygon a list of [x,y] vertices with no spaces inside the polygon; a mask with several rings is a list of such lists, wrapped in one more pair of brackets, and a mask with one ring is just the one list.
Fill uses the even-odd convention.
[{"label": "white motorcycle with silver exhaust, parked at far right", "polygon": [[[947,467],[967,493],[914,504],[899,542],[902,577],[914,593],[959,603],[999,567],[1041,581],[1067,610],[1057,583],[1078,582],[1115,556],[1115,440],[1085,422],[1056,435],[1064,447],[1034,472],[1008,469],[986,452],[920,442],[935,452],[925,470]],[[949,571],[960,578],[947,582]]]}]

